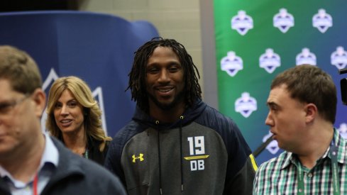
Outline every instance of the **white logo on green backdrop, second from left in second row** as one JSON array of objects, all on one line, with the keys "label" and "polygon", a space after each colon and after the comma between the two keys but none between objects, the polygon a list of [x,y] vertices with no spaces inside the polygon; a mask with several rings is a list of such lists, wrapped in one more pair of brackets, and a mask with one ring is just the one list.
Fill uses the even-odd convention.
[{"label": "white logo on green backdrop, second from left in second row", "polygon": [[259,57],[259,66],[270,74],[274,72],[277,67],[280,67],[280,65],[280,55],[273,52],[271,48],[266,49],[265,53]]}]

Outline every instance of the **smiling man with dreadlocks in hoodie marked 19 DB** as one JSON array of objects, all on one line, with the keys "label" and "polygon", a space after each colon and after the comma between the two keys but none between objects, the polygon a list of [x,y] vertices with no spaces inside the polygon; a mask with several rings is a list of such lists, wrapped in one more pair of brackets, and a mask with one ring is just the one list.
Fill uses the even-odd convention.
[{"label": "smiling man with dreadlocks in hoodie marked 19 DB", "polygon": [[176,40],[154,38],[129,76],[136,112],[105,166],[128,194],[251,194],[257,165],[230,118],[202,101],[199,72]]}]

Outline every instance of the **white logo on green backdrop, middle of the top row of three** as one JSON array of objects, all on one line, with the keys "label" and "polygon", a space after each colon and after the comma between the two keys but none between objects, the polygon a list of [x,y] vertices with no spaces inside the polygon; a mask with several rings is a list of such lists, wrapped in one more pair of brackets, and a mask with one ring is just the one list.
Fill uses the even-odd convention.
[{"label": "white logo on green backdrop, middle of the top row of three", "polygon": [[287,12],[287,9],[280,9],[280,12],[273,16],[273,26],[280,29],[282,33],[294,26],[294,17]]}]

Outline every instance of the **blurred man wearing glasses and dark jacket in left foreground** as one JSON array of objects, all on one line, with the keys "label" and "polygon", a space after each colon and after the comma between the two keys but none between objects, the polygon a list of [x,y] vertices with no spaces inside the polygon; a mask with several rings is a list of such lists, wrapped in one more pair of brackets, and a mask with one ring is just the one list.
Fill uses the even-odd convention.
[{"label": "blurred man wearing glasses and dark jacket in left foreground", "polygon": [[41,86],[26,52],[0,46],[0,194],[125,194],[104,167],[42,133]]}]

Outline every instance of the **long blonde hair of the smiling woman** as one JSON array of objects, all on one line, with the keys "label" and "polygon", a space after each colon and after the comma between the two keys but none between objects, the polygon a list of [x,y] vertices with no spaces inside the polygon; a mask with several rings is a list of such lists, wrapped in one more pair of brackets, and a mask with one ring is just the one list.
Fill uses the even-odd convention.
[{"label": "long blonde hair of the smiling woman", "polygon": [[60,77],[50,87],[46,121],[46,128],[50,135],[62,140],[62,131],[58,128],[57,123],[55,123],[54,109],[55,104],[57,104],[58,99],[65,90],[69,90],[79,104],[83,106],[84,130],[87,137],[92,136],[95,140],[101,141],[99,150],[101,152],[104,151],[106,141],[111,140],[111,137],[106,136],[104,130],[101,128],[101,110],[97,101],[92,96],[92,91],[87,83],[78,77]]}]

